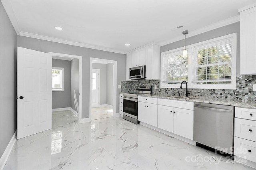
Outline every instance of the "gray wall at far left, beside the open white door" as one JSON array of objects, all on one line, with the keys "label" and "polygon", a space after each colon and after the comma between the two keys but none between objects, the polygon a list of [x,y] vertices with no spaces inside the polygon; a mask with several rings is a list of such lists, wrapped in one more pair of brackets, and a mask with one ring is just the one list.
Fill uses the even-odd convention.
[{"label": "gray wall at far left, beside the open white door", "polygon": [[0,2],[0,157],[16,130],[17,34]]}]

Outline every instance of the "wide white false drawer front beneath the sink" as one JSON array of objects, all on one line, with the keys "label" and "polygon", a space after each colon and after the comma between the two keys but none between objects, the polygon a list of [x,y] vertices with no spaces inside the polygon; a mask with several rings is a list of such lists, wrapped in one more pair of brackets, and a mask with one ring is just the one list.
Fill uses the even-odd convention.
[{"label": "wide white false drawer front beneath the sink", "polygon": [[177,101],[171,99],[158,99],[158,105],[178,107],[181,109],[194,110],[194,103],[189,101]]}]

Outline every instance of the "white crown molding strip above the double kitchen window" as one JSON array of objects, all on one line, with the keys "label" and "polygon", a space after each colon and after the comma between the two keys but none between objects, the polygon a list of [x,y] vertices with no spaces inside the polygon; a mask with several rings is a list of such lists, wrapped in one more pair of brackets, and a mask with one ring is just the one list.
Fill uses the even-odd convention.
[{"label": "white crown molding strip above the double kitchen window", "polygon": [[[227,26],[227,25],[239,22],[239,21],[240,21],[240,15],[237,15],[237,16],[228,18],[226,20],[222,20],[220,22],[216,22],[216,23],[211,24],[209,26],[200,28],[198,30],[191,31],[191,32],[189,32],[189,34],[186,35],[186,38],[189,38],[189,37],[192,37],[192,36],[196,36],[198,34],[202,34],[204,32],[208,32],[208,31],[211,31],[211,30],[223,27],[223,26]],[[160,47],[164,46],[164,45],[167,45],[169,43],[173,43],[173,42],[177,42],[177,41],[183,40],[183,39],[184,39],[183,35],[177,36],[176,38],[172,38],[171,40],[160,42]]]}]

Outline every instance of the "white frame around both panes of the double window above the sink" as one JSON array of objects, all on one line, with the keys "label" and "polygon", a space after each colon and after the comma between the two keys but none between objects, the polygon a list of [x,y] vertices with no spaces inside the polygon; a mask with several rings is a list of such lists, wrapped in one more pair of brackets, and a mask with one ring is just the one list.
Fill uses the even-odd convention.
[{"label": "white frame around both panes of the double window above the sink", "polygon": [[[231,83],[230,84],[196,84],[192,83],[192,50],[194,47],[199,45],[205,45],[207,43],[214,43],[216,41],[220,41],[226,38],[232,38],[232,72],[231,72]],[[194,43],[191,45],[186,45],[186,49],[188,50],[188,88],[190,89],[236,89],[236,45],[237,45],[237,34],[232,33],[225,36],[220,36],[217,38],[212,38],[210,40]],[[180,88],[180,84],[166,84],[163,83],[163,55],[168,53],[174,53],[175,51],[183,50],[184,47],[172,49],[169,51],[164,51],[161,53],[161,67],[160,67],[160,88]]]}]

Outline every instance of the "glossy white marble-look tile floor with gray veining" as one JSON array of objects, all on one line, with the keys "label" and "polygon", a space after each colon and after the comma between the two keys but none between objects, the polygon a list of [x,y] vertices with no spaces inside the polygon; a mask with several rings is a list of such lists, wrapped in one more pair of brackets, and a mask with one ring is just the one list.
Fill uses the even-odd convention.
[{"label": "glossy white marble-look tile floor with gray veining", "polygon": [[253,169],[121,117],[78,124],[52,114],[52,129],[22,138],[5,170]]}]

